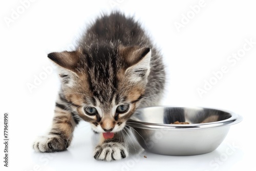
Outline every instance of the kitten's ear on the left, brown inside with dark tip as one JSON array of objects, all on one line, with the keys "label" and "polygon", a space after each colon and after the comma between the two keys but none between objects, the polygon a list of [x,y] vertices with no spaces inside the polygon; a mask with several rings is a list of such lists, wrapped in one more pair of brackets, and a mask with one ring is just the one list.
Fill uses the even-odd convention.
[{"label": "kitten's ear on the left, brown inside with dark tip", "polygon": [[74,71],[79,61],[79,54],[77,51],[63,51],[49,53],[48,57],[54,61],[58,66]]}]

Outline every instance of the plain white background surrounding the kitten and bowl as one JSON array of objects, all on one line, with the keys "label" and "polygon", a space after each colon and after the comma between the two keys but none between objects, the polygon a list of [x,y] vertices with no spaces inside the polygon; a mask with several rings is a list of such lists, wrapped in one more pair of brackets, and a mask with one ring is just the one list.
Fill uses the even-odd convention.
[{"label": "plain white background surrounding the kitten and bowl", "polygon": [[[10,127],[9,167],[3,166],[1,143],[1,170],[205,171],[242,170],[245,166],[255,170],[256,4],[253,1],[205,0],[198,13],[192,8],[200,4],[199,0],[47,0],[25,3],[26,8],[23,1],[1,1],[0,4],[0,113],[2,121],[3,114],[9,113]],[[53,67],[47,54],[74,49],[83,28],[102,11],[113,9],[139,19],[162,50],[168,82],[162,104],[215,107],[243,116],[242,122],[231,126],[216,151],[185,157],[136,151],[137,155],[121,161],[96,161],[92,157],[95,142],[90,127],[81,123],[69,151],[33,152],[33,140],[46,133],[51,125],[59,89],[55,70],[46,74],[43,69]],[[184,15],[189,15],[190,19],[186,20]],[[6,22],[8,18],[10,23]],[[176,22],[183,22],[183,27],[177,29]],[[229,56],[242,53],[246,39],[254,44],[232,65],[228,62]],[[214,78],[213,72],[223,66],[228,72],[219,79]],[[39,76],[45,78],[29,90],[28,84],[34,84]],[[210,80],[214,85],[200,96],[198,89],[204,89],[205,81]],[[3,140],[3,122],[1,130]],[[227,154],[230,149],[233,153]],[[147,158],[143,158],[144,155]]]}]

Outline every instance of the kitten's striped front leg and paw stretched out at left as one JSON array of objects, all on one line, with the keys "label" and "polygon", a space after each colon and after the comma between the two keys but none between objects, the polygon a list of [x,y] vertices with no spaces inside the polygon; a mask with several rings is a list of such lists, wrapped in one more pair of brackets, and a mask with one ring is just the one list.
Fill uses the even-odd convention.
[{"label": "kitten's striped front leg and paw stretched out at left", "polygon": [[55,114],[51,131],[39,137],[33,144],[36,152],[61,152],[65,151],[72,140],[72,133],[78,120],[70,107],[65,103],[56,102]]}]

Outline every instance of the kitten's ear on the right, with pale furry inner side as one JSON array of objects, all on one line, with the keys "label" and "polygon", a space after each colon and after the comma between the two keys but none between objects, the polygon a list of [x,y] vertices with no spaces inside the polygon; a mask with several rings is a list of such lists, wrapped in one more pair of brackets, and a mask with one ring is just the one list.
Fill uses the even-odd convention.
[{"label": "kitten's ear on the right, with pale furry inner side", "polygon": [[138,82],[147,78],[150,74],[150,48],[127,47],[122,49],[122,54],[129,66],[125,75],[129,75],[130,81]]}]

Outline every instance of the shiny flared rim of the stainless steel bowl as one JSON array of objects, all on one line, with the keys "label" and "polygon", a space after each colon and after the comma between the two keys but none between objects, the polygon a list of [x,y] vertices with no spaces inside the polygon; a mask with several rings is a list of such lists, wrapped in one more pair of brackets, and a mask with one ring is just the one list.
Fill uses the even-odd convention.
[{"label": "shiny flared rim of the stainless steel bowl", "polygon": [[[230,126],[232,124],[239,123],[243,120],[243,117],[234,112],[223,110],[219,108],[208,108],[203,106],[178,106],[178,105],[156,105],[156,106],[148,106],[144,108],[139,108],[139,110],[149,109],[149,108],[202,108],[202,109],[211,109],[218,110],[222,112],[229,113],[231,115],[230,118],[216,121],[216,122],[208,122],[208,123],[191,123],[191,124],[164,124],[164,123],[152,123],[152,122],[142,122],[134,119],[129,119],[126,121],[126,125],[147,129],[147,130],[175,130],[175,131],[194,131],[194,130],[206,130],[213,129],[220,126]],[[138,113],[138,112],[137,112]]]}]

